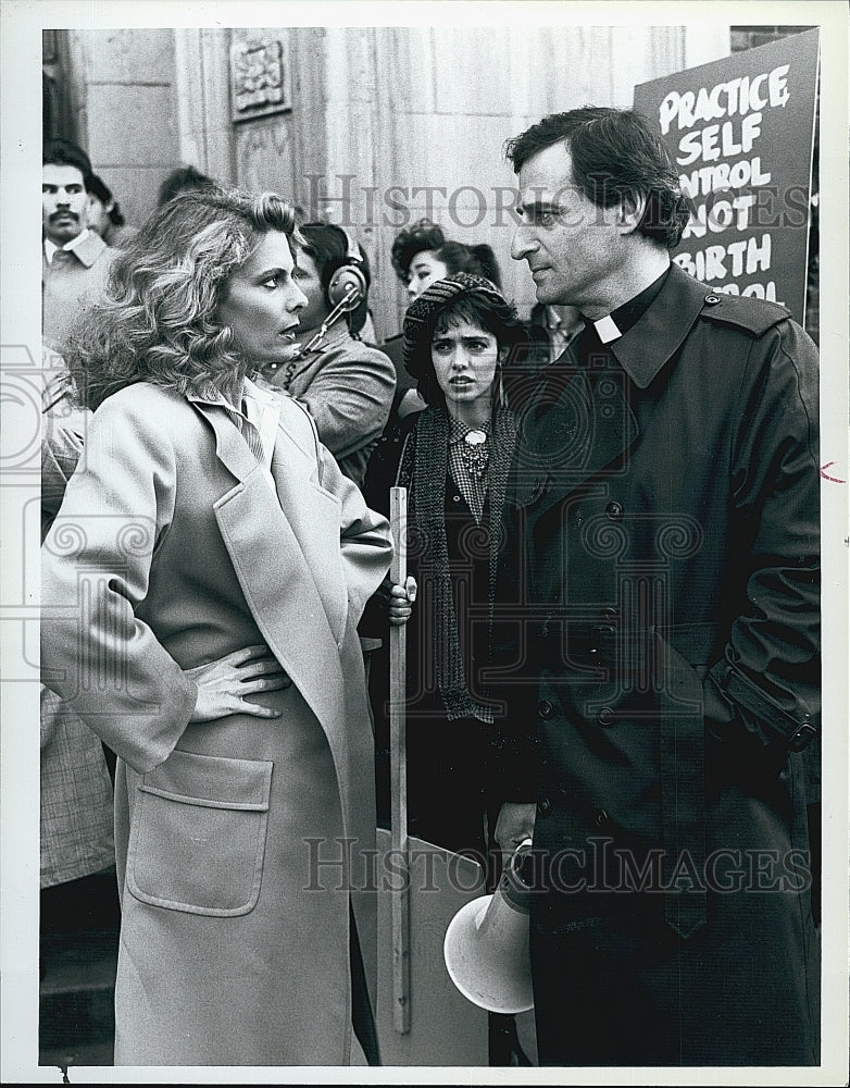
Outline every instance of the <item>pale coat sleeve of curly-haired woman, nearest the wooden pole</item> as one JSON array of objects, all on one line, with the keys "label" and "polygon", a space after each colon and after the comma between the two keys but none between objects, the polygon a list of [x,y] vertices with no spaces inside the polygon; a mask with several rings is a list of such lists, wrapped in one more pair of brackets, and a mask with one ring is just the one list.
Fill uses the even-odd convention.
[{"label": "pale coat sleeve of curly-haired woman, nearest the wooden pole", "polygon": [[357,484],[340,470],[336,459],[318,444],[322,486],[340,503],[340,549],[348,590],[349,617],[360,622],[366,602],[384,581],[392,558],[387,519],[366,506]]}]

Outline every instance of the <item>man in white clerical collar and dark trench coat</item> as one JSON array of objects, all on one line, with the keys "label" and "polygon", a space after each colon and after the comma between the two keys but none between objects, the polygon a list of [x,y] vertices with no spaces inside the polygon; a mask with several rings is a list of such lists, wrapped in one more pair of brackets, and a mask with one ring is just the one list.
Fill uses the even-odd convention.
[{"label": "man in white clerical collar and dark trench coat", "polygon": [[540,1063],[817,1065],[816,348],[672,262],[688,207],[638,114],[508,157],[512,257],[586,321],[523,406],[491,673]]}]

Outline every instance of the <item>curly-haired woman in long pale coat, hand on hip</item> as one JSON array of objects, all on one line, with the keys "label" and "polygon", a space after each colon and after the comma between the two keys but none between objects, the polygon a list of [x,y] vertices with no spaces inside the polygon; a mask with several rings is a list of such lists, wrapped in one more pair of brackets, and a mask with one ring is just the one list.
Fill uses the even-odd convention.
[{"label": "curly-haired woman in long pale coat, hand on hip", "polygon": [[[175,197],[68,360],[93,416],[41,662],[118,757],[116,1065],[346,1065],[352,1022],[378,1062],[357,623],[391,545],[309,413],[246,376],[295,351],[293,230],[274,195]],[[311,845],[341,841],[345,887]]]}]

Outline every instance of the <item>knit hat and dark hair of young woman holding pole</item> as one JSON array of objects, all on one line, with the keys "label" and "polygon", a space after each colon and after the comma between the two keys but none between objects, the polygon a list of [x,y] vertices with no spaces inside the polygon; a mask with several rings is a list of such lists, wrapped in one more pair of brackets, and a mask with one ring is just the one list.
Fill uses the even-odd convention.
[{"label": "knit hat and dark hair of young woman holding pole", "polygon": [[408,307],[402,344],[404,366],[427,404],[446,404],[432,359],[434,334],[463,321],[491,333],[500,348],[510,349],[505,366],[527,347],[516,309],[489,280],[458,272],[433,283]]}]

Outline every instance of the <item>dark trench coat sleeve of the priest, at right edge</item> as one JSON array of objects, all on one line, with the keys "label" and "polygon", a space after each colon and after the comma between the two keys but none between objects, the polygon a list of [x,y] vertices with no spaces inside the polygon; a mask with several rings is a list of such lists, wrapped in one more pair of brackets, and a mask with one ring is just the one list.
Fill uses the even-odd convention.
[{"label": "dark trench coat sleeve of the priest, at right edge", "polygon": [[784,321],[754,342],[747,371],[730,489],[749,541],[738,559],[746,599],[709,680],[738,726],[784,751],[820,730],[817,351]]}]

